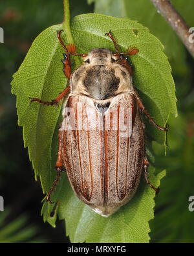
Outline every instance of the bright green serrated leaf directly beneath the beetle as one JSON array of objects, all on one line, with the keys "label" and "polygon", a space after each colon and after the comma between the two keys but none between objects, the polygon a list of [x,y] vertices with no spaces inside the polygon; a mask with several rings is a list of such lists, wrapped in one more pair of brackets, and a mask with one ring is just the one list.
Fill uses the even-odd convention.
[{"label": "bright green serrated leaf directly beneath the beetle", "polygon": [[[49,27],[36,38],[12,81],[12,93],[17,95],[18,122],[23,126],[25,146],[28,146],[36,175],[40,176],[43,192],[48,192],[56,176],[54,165],[58,152],[61,104],[56,109],[38,102],[29,106],[28,97],[52,100],[67,85],[60,62],[63,49],[56,36],[56,30],[61,27]],[[110,29],[121,51],[136,46],[139,52],[131,56],[130,62],[135,69],[134,84],[144,105],[161,126],[166,124],[169,112],[177,115],[171,67],[162,44],[146,27],[130,19],[85,14],[74,17],[70,28],[78,52],[87,53],[95,47],[114,51],[112,41],[105,36]],[[68,43],[65,33],[62,37]],[[146,122],[146,130],[149,141],[154,139],[164,143],[164,133],[149,122]],[[149,180],[156,187],[163,176],[164,172],[155,176],[154,169],[149,168]],[[56,204],[44,203],[42,214],[52,226],[55,226],[57,215],[60,219],[65,218],[67,235],[72,242],[148,242],[148,222],[153,218],[154,197],[155,192],[142,179],[133,200],[113,216],[103,218],[78,200],[67,176],[62,174],[51,198]]]}]

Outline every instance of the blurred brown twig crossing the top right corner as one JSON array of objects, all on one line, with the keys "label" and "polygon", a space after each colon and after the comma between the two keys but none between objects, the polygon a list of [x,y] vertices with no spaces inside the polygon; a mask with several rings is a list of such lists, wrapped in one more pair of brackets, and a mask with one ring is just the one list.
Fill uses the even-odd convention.
[{"label": "blurred brown twig crossing the top right corner", "polygon": [[[177,33],[182,43],[187,47],[188,51],[194,58],[194,43],[189,42],[189,27],[184,19],[178,14],[169,0],[150,0],[158,9],[158,12],[164,16],[166,21],[171,25]],[[191,10],[192,12],[192,10]]]}]

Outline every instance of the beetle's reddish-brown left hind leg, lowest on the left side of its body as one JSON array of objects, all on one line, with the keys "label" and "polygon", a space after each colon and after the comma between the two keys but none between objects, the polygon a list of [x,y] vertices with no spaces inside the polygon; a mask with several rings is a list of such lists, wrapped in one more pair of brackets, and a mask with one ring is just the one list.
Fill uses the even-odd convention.
[{"label": "beetle's reddish-brown left hind leg, lowest on the left side of its body", "polygon": [[57,171],[57,176],[56,179],[54,180],[54,183],[52,185],[52,187],[50,188],[50,191],[47,194],[47,199],[46,202],[52,203],[50,201],[50,194],[52,194],[52,191],[54,191],[54,188],[56,187],[61,172],[64,172],[65,170],[63,169],[63,163],[62,163],[62,150],[61,150],[61,131],[59,130],[59,150],[58,150],[58,159],[56,161],[56,167],[55,167],[56,171]]}]

